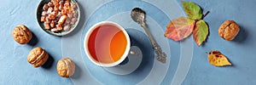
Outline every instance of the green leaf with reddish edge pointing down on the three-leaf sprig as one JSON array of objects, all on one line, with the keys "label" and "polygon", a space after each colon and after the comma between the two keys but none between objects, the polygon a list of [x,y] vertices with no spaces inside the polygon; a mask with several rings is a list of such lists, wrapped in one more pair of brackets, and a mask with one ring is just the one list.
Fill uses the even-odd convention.
[{"label": "green leaf with reddish edge pointing down on the three-leaf sprig", "polygon": [[201,43],[207,39],[208,36],[208,26],[204,20],[198,20],[195,24],[193,31],[193,37],[198,46],[201,46]]}]

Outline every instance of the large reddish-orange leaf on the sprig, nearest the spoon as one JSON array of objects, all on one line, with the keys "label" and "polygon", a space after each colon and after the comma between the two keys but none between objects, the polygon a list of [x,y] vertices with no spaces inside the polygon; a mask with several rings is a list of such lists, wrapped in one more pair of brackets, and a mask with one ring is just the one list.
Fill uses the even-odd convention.
[{"label": "large reddish-orange leaf on the sprig, nearest the spoon", "polygon": [[186,17],[178,17],[172,20],[166,27],[165,37],[174,41],[183,40],[192,33],[195,26],[195,20],[189,20]]}]

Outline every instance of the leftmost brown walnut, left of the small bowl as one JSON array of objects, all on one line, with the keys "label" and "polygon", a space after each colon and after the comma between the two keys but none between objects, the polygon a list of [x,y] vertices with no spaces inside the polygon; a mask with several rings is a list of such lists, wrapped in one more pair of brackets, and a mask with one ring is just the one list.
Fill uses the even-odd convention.
[{"label": "leftmost brown walnut, left of the small bowl", "polygon": [[16,42],[20,44],[26,44],[32,39],[32,32],[24,25],[16,26],[12,31],[12,36]]}]

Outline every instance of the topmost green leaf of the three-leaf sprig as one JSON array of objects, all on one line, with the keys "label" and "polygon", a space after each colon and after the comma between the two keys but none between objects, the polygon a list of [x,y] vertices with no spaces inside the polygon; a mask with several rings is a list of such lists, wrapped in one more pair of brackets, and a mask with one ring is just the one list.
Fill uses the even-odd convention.
[{"label": "topmost green leaf of the three-leaf sprig", "polygon": [[201,20],[203,14],[201,13],[201,8],[197,4],[183,1],[183,8],[189,19]]}]

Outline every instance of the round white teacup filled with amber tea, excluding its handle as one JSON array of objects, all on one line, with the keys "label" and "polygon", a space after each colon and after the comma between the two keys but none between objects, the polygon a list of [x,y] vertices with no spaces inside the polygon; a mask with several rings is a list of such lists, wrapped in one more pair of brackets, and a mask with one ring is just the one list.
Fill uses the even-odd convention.
[{"label": "round white teacup filled with amber tea, excluding its handle", "polygon": [[112,21],[96,23],[84,37],[85,54],[91,62],[103,67],[119,65],[129,54],[130,48],[128,33]]}]

